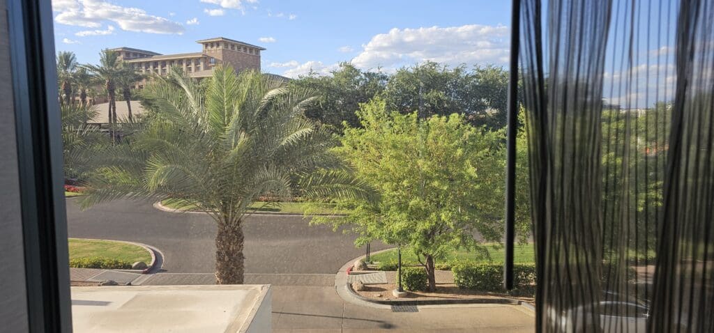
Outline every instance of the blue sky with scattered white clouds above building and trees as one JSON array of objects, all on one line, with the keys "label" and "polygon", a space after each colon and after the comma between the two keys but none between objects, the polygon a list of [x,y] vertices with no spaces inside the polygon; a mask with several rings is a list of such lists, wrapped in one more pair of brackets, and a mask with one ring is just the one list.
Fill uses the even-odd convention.
[{"label": "blue sky with scattered white clouds above building and trees", "polygon": [[510,1],[53,0],[56,48],[200,51],[224,36],[267,48],[263,71],[327,73],[340,61],[393,71],[425,60],[505,65]]}]

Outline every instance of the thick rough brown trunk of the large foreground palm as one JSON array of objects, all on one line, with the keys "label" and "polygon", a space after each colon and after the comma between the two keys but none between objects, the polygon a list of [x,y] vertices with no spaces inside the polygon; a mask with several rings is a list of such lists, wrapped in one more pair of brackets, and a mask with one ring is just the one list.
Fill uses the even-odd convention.
[{"label": "thick rough brown trunk of the large foreground palm", "polygon": [[216,234],[216,284],[243,284],[243,225],[220,223]]}]

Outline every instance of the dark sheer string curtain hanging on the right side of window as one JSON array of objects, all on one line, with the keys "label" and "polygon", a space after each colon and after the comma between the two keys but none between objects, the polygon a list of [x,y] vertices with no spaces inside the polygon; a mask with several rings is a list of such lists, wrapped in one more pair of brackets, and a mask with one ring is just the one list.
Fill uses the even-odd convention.
[{"label": "dark sheer string curtain hanging on the right side of window", "polygon": [[714,1],[520,10],[538,332],[714,332]]}]

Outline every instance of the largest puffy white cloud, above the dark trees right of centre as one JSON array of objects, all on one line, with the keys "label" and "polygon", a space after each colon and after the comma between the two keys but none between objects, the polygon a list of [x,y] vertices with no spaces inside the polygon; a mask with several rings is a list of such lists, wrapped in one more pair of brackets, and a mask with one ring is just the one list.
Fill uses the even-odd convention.
[{"label": "largest puffy white cloud, above the dark trees right of centre", "polygon": [[360,68],[393,70],[423,61],[458,66],[508,63],[506,26],[469,24],[441,28],[391,29],[373,36],[352,63]]}]

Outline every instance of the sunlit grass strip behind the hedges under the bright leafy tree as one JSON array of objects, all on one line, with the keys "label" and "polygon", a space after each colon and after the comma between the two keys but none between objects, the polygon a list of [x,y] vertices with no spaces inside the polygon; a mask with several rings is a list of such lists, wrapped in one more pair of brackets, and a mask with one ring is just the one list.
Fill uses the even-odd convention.
[{"label": "sunlit grass strip behind the hedges under the bright leafy tree", "polygon": [[[497,248],[493,245],[486,245],[486,250],[488,250],[488,254],[491,256],[490,262],[503,262],[503,247]],[[388,250],[371,255],[370,260],[373,262],[397,262],[397,250]],[[423,261],[424,258],[422,257],[421,260]],[[458,250],[448,255],[445,260],[436,260],[436,264],[443,264],[446,262],[488,263],[489,260],[485,255],[480,255],[479,252]],[[516,264],[532,264],[535,262],[533,244],[516,244],[513,253],[513,262]],[[415,265],[419,262],[416,255],[414,255],[411,250],[405,249],[402,251],[402,263],[406,265]]]}]

